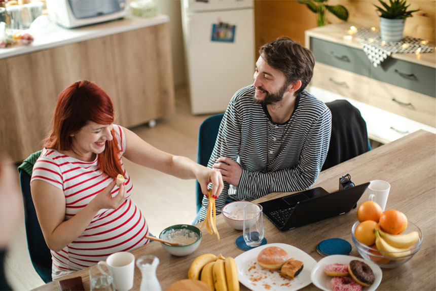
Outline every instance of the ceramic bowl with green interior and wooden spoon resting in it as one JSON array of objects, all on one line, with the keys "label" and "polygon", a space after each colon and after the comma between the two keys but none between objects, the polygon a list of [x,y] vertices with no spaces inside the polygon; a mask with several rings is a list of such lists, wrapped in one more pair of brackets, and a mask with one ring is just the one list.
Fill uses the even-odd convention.
[{"label": "ceramic bowl with green interior and wooden spoon resting in it", "polygon": [[200,229],[193,225],[177,224],[167,227],[159,234],[160,239],[171,241],[170,239],[168,239],[168,234],[171,232],[171,230],[177,231],[177,230],[184,230],[184,229],[193,231],[197,235],[197,240],[191,244],[180,245],[180,246],[170,245],[161,242],[162,247],[169,253],[173,254],[174,256],[178,256],[178,257],[188,256],[188,254],[193,253],[197,249],[197,247],[200,245],[201,242]]}]

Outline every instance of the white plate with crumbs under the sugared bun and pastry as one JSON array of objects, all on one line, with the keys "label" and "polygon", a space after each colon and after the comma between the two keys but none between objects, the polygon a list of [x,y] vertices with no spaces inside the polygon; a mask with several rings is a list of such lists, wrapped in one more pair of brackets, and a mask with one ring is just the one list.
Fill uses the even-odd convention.
[{"label": "white plate with crumbs under the sugared bun and pastry", "polygon": [[[290,258],[303,262],[301,273],[293,280],[283,278],[278,271],[270,271],[259,266],[258,254],[268,246],[278,246],[284,249]],[[295,246],[285,243],[269,243],[241,253],[235,258],[238,266],[239,282],[251,290],[297,290],[309,285],[310,274],[316,261],[307,253]],[[255,264],[256,263],[256,264]]]}]

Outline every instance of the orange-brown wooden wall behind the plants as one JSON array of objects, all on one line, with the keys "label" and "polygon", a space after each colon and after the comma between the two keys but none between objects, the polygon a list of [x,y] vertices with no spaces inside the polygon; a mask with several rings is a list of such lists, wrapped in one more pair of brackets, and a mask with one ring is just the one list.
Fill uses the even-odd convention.
[{"label": "orange-brown wooden wall behind the plants", "polygon": [[[349,12],[348,22],[361,26],[380,26],[373,4],[377,0],[330,0],[329,5],[344,5]],[[405,35],[425,40],[436,39],[436,1],[408,0],[410,9],[421,9],[406,20]],[[342,22],[329,15],[330,23]],[[304,31],[316,27],[315,14],[305,5],[291,0],[255,0],[256,52],[260,46],[281,36],[304,44]],[[257,55],[258,57],[258,55]]]}]

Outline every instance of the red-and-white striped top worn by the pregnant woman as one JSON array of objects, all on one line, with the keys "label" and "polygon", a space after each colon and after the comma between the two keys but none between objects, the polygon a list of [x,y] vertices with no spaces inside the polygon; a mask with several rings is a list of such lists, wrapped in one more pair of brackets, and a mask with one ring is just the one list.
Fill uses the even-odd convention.
[{"label": "red-and-white striped top worn by the pregnant woman", "polygon": [[[146,219],[130,198],[132,180],[122,160],[126,150],[125,134],[119,125],[114,125],[114,130],[126,177],[127,198],[118,209],[98,211],[86,230],[61,251],[51,250],[53,280],[104,261],[111,253],[130,250],[149,242],[144,238],[148,234]],[[98,156],[92,162],[84,162],[55,150],[44,149],[33,167],[31,181],[44,180],[62,189],[65,195],[65,220],[68,220],[113,181],[98,168],[97,159]],[[117,186],[113,193],[118,193]]]}]

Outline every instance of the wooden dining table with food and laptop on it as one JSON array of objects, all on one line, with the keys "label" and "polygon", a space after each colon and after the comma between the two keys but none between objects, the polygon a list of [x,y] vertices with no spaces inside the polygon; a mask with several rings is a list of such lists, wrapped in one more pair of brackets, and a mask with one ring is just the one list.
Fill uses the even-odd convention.
[{"label": "wooden dining table with food and laptop on it", "polygon": [[[374,179],[386,180],[391,188],[386,209],[397,209],[416,224],[422,231],[421,249],[405,264],[392,269],[382,268],[380,290],[434,290],[436,274],[436,135],[427,131],[417,131],[401,139],[384,144],[365,154],[322,171],[312,187],[322,187],[329,193],[339,187],[339,178],[347,173],[351,175],[354,184],[362,184]],[[261,202],[289,193],[271,193],[256,200]],[[366,201],[364,193],[357,205]],[[268,243],[285,243],[295,246],[315,261],[323,257],[316,251],[317,244],[329,238],[342,238],[353,246],[350,256],[360,257],[352,244],[351,227],[357,221],[356,208],[351,211],[325,219],[310,225],[288,231],[278,230],[264,217],[265,237]],[[160,242],[131,250],[136,258],[153,254],[159,258],[157,278],[163,290],[181,279],[186,279],[191,262],[203,253],[213,253],[223,256],[237,257],[244,251],[237,248],[235,239],[242,234],[232,229],[224,221],[222,215],[216,217],[216,227],[221,240],[210,235],[203,228],[200,246],[186,257],[175,257],[166,252]],[[90,289],[88,269],[72,273],[64,278],[81,276],[85,290]],[[42,285],[35,290],[58,290],[58,280]],[[139,290],[141,273],[135,267],[134,285],[132,290]],[[247,287],[240,284],[242,290]],[[272,287],[271,289],[274,289]],[[304,290],[318,290],[313,284]]]}]

